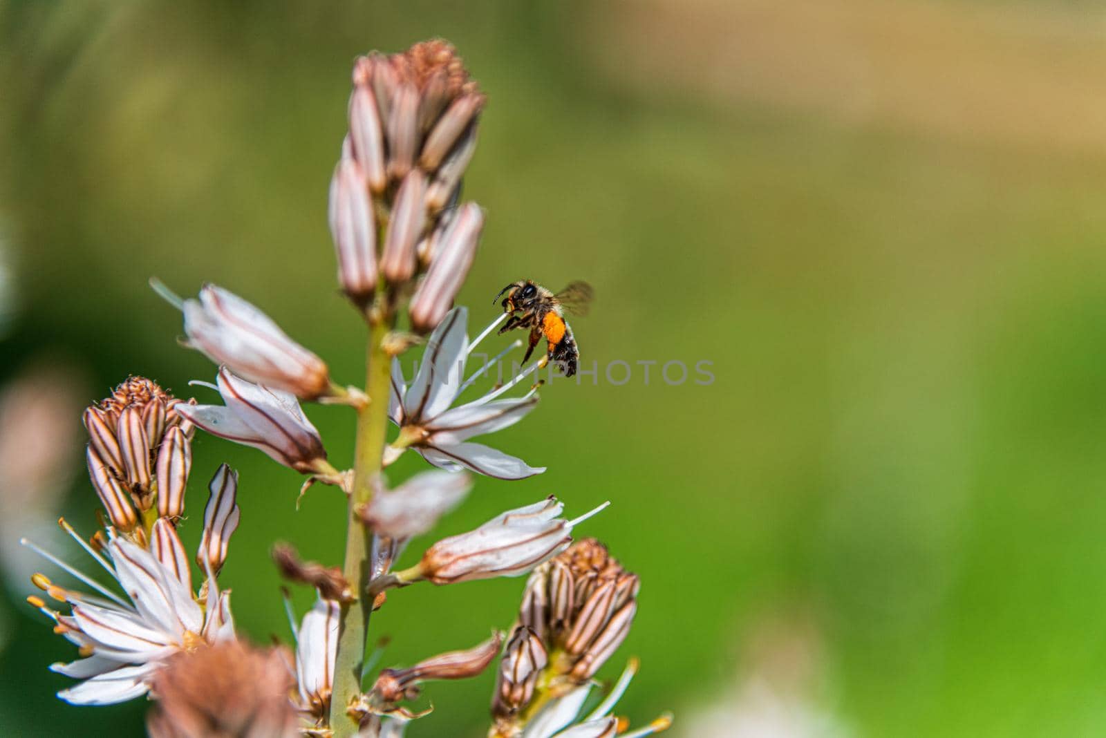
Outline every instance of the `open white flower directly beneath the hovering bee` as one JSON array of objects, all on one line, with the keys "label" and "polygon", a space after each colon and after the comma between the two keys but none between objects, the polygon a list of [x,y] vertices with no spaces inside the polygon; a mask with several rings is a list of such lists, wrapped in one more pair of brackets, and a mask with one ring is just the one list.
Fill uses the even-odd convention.
[{"label": "open white flower directly beneath the hovering bee", "polygon": [[468,310],[463,307],[453,308],[446,315],[430,335],[418,373],[409,387],[404,382],[398,360],[393,363],[389,412],[400,431],[397,441],[386,450],[385,460],[394,461],[403,449],[411,447],[435,466],[447,471],[468,468],[500,479],[521,479],[544,472],[544,466],[530,466],[521,458],[469,441],[514,425],[534,409],[538,397],[533,390],[521,398],[499,398],[541,368],[542,362],[531,365],[499,389],[471,402],[450,407],[505,354],[463,379],[470,352],[489,333],[484,330],[469,344],[467,324]]}]

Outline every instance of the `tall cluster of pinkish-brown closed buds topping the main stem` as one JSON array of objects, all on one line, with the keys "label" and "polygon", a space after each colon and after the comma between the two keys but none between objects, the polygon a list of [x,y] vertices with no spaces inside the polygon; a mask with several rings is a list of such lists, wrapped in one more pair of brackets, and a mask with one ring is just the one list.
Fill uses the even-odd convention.
[{"label": "tall cluster of pinkish-brown closed buds topping the main stem", "polygon": [[330,196],[338,282],[355,304],[367,306],[382,277],[395,289],[425,271],[415,329],[430,330],[452,305],[483,228],[479,207],[453,207],[483,104],[445,41],[357,60]]}]

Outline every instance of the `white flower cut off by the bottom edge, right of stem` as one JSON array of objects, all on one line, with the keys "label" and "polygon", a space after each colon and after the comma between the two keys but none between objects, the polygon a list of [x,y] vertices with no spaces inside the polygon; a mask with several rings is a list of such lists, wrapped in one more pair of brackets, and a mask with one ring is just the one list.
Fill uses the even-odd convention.
[{"label": "white flower cut off by the bottom edge, right of stem", "polygon": [[[611,692],[587,714],[582,715],[581,708],[592,690],[591,682],[553,699],[526,723],[521,738],[608,738],[616,735],[618,719],[611,713],[637,674],[637,660],[632,660]],[[619,738],[644,738],[667,730],[671,724],[671,716],[662,715],[644,728],[622,734]]]}]

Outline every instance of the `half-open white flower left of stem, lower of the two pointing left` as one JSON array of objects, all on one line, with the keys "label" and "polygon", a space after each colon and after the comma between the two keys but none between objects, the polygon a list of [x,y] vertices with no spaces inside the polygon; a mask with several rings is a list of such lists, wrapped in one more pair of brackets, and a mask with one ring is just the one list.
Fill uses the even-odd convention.
[{"label": "half-open white flower left of stem, lower of the two pointing left", "polygon": [[254,446],[271,458],[309,473],[326,460],[319,431],[295,397],[236,377],[226,367],[217,378],[225,407],[177,405],[182,418],[222,439]]}]

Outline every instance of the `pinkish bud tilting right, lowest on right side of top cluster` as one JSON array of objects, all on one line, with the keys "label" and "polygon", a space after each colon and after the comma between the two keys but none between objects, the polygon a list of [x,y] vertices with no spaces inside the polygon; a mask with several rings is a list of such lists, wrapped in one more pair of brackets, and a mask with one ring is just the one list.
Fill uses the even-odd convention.
[{"label": "pinkish bud tilting right, lowest on right side of top cluster", "polygon": [[453,299],[472,266],[482,230],[483,211],[472,202],[461,205],[449,221],[426,278],[411,298],[410,317],[415,330],[432,330],[453,306]]}]

